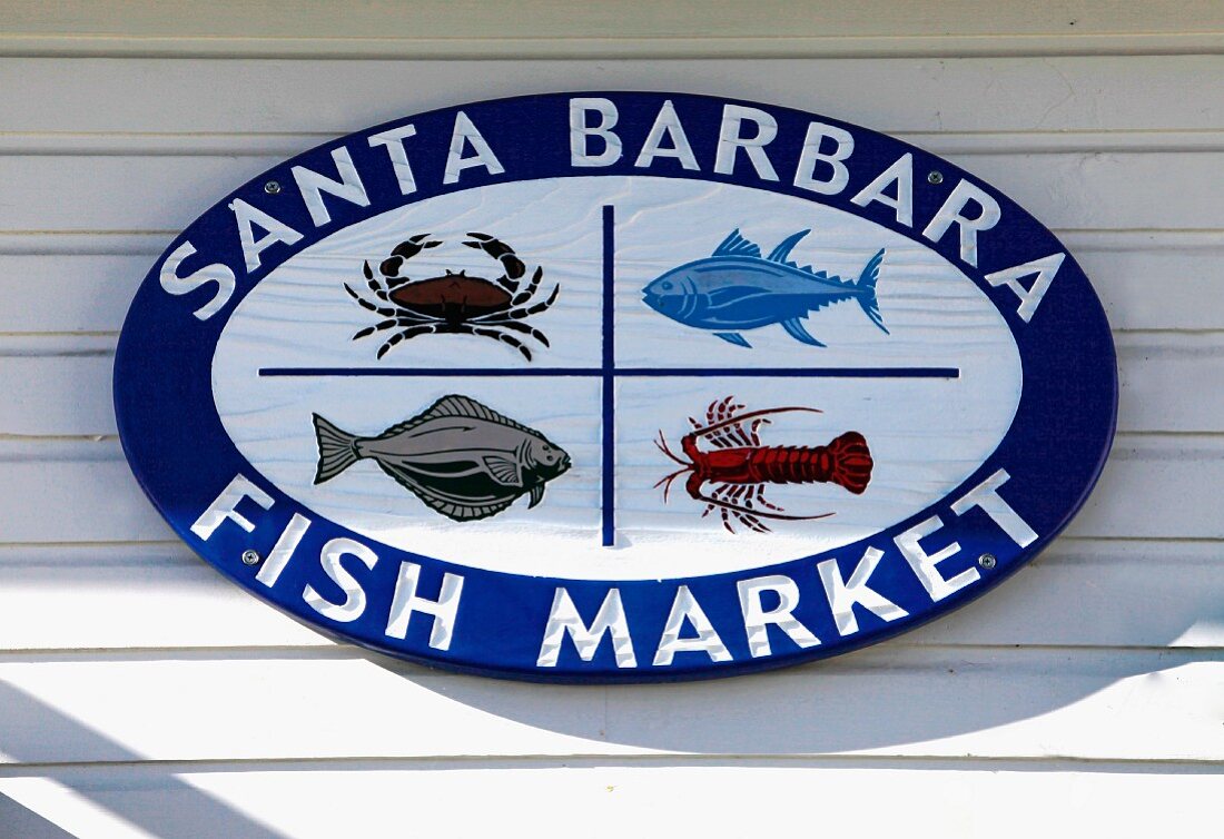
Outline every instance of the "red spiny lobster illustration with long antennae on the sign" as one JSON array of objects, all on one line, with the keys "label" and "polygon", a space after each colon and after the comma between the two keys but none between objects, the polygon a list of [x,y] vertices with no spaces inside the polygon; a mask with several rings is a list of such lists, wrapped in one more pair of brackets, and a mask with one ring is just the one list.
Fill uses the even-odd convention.
[{"label": "red spiny lobster illustration with long antennae on the sign", "polygon": [[[765,484],[837,484],[854,495],[867,489],[871,480],[871,452],[858,431],[847,431],[827,446],[761,446],[758,432],[760,426],[770,423],[769,416],[788,412],[823,412],[798,407],[743,410],[744,405],[736,404],[736,398],[728,396],[710,403],[705,425],[690,416],[693,430],[681,440],[681,451],[688,459],[672,452],[663,432],[659,432],[655,446],[684,467],[655,484],[663,487],[663,503],[667,503],[672,481],[692,473],[684,481],[684,489],[693,500],[705,502],[703,517],[717,510],[722,525],[731,533],[736,532],[732,518],[750,530],[769,533],[763,518],[800,522],[832,513],[787,514],[785,508],[765,499]],[[699,440],[707,441],[712,450],[698,448]],[[717,486],[705,495],[701,486],[707,481]]]}]

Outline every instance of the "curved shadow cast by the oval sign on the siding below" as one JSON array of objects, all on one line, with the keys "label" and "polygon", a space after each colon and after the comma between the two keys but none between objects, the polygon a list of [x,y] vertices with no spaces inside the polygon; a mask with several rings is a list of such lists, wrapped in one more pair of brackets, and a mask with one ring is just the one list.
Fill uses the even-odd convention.
[{"label": "curved shadow cast by the oval sign on the siding below", "polygon": [[[425,675],[419,668],[394,659],[375,654],[368,658],[455,702],[540,729],[605,742],[696,754],[793,756],[878,750],[885,754],[936,756],[989,753],[989,746],[983,750],[985,743],[980,737],[965,746],[933,741],[1040,717],[1124,679],[1211,655],[1195,649],[1114,647],[1093,652],[1075,647],[1024,648],[998,641],[982,647],[938,643],[949,636],[961,638],[962,643],[966,637],[988,636],[1005,612],[1040,620],[1040,615],[1053,614],[1054,601],[1073,601],[1076,590],[1082,590],[1071,588],[1077,577],[1070,565],[1059,567],[1067,572],[1062,592],[1048,588],[1051,576],[1062,574],[1047,572],[1038,577],[1022,572],[990,596],[900,639],[824,661],[715,681],[539,686]],[[1125,563],[1104,571],[1129,572]],[[1026,577],[1032,578],[1031,584],[1026,584]],[[1185,595],[1184,600],[1195,600],[1189,593]],[[1212,593],[1208,590],[1203,596]],[[1200,605],[1201,610],[1195,603],[1182,603],[1163,615],[1160,610],[1146,615],[1144,634],[1176,643],[1193,616],[1219,611],[1218,604]],[[1115,604],[1110,620],[1138,619]],[[1125,637],[1113,626],[1100,626],[1098,632]],[[1006,630],[1000,633],[1010,634]],[[914,641],[922,641],[923,645],[914,645]],[[1103,729],[1110,724],[1108,717],[1100,717]],[[1024,739],[1009,736],[1001,756],[1024,756],[1026,743],[1033,742],[1032,735],[1020,736]],[[1092,732],[1080,725],[1073,736],[1078,741]],[[1108,737],[1103,731],[1093,740]],[[931,746],[913,747],[924,742]]]}]

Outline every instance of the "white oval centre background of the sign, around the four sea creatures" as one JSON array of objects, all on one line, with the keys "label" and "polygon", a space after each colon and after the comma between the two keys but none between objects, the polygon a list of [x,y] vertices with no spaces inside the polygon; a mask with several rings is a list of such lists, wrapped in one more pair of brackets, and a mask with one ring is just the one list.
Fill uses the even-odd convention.
[{"label": "white oval centre background of the sign, around the four sea creatures", "polygon": [[[469,230],[492,230],[529,271],[543,268],[539,298],[554,285],[557,303],[531,318],[551,347],[532,344],[536,361],[599,367],[602,205],[617,212],[617,361],[622,366],[737,366],[752,354],[761,366],[953,366],[958,378],[820,380],[794,385],[673,378],[659,385],[624,378],[617,385],[618,521],[622,540],[600,539],[600,404],[595,378],[410,377],[269,378],[261,367],[375,367],[393,365],[502,367],[518,354],[471,336],[422,336],[382,360],[378,345],[394,331],[353,340],[381,320],[344,290],[364,288],[362,266],[377,266],[406,236],[431,233],[443,245],[405,262],[401,273],[446,271],[496,277],[501,268],[463,246]],[[808,328],[829,347],[791,339],[781,327],[747,333],[752,350],[684,327],[641,303],[641,288],[662,272],[709,256],[732,229],[769,252],[796,230],[812,233],[793,251],[813,265],[857,278],[881,247],[880,309],[890,333],[876,329],[853,303],[814,312]],[[530,343],[530,342],[529,342]],[[271,271],[231,315],[214,358],[214,398],[239,450],[266,478],[315,513],[382,543],[450,562],[589,579],[651,579],[720,573],[809,556],[865,538],[914,516],[962,484],[1002,438],[1021,387],[1020,359],[1004,315],[950,262],[906,236],[829,207],[759,190],[667,178],[564,178],[498,184],[412,203],[328,236]],[[783,397],[780,397],[780,387]],[[464,393],[564,448],[573,468],[547,485],[542,502],[523,499],[507,511],[455,528],[389,479],[370,461],[315,484],[318,448],[311,415],[318,413],[359,435],[377,435],[416,415],[435,399]],[[823,414],[776,418],[765,445],[823,445],[842,431],[862,432],[875,469],[862,497],[830,485],[770,487],[769,497],[800,513],[835,512],[816,522],[791,522],[754,539],[727,533],[701,517],[703,505],[673,486],[662,503],[655,489],[676,467],[655,448],[660,431],[674,447],[687,418],[728,394],[752,408],[793,402]],[[802,398],[800,398],[802,397]],[[676,551],[677,533],[700,550]],[[547,550],[541,550],[547,545]]]}]

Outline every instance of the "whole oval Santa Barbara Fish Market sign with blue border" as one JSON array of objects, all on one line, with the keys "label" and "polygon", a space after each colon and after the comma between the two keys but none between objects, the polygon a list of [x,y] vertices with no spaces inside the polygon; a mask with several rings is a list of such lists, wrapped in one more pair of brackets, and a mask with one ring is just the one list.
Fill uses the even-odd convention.
[{"label": "whole oval Santa Barbara Fish Market sign with blue border", "polygon": [[115,359],[132,469],[348,641],[550,681],[728,675],[984,593],[1118,401],[1062,245],[973,175],[772,105],[446,108],[200,217]]}]

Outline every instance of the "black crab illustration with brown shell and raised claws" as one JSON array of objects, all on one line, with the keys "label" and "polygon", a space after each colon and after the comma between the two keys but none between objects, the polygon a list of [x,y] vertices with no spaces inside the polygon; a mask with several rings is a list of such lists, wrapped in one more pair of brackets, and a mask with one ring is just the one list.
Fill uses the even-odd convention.
[{"label": "black crab illustration with brown shell and raised claws", "polygon": [[394,329],[390,337],[378,348],[378,358],[392,347],[425,334],[469,334],[493,338],[509,344],[531,360],[531,350],[524,343],[526,336],[542,345],[548,345],[548,338],[535,327],[525,323],[525,318],[547,311],[557,300],[561,287],[557,285],[543,300],[536,300],[543,268],[537,267],[531,279],[524,285],[519,280],[526,276],[528,268],[514,249],[494,239],[487,233],[469,233],[468,247],[488,254],[497,260],[504,272],[497,279],[470,277],[464,271],[447,271],[442,277],[412,279],[403,276],[404,263],[427,247],[437,247],[442,243],[430,239],[430,234],[410,236],[392,250],[390,256],[382,261],[377,273],[365,263],[366,287],[373,300],[355,292],[348,283],[344,290],[356,300],[362,309],[375,312],[384,320],[367,326],[353,336],[353,339]]}]

